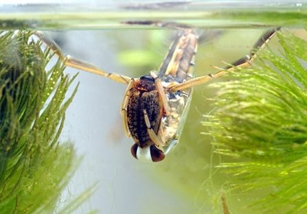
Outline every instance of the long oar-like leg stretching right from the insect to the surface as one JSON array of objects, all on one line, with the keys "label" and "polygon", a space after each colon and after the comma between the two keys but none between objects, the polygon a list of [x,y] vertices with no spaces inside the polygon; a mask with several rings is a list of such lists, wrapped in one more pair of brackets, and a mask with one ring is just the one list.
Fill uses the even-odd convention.
[{"label": "long oar-like leg stretching right from the insect to the surface", "polygon": [[218,71],[215,74],[203,75],[197,78],[192,78],[190,80],[187,80],[179,84],[175,85],[172,84],[169,86],[168,89],[171,92],[175,92],[183,90],[185,88],[191,88],[193,86],[204,84],[205,82],[209,82],[214,78],[218,78],[222,75],[225,75],[229,73],[229,71],[235,71],[236,67],[241,67],[241,68],[248,67],[253,62],[253,60],[257,58],[258,51],[260,49],[263,49],[266,46],[266,44],[269,43],[269,40],[273,38],[273,36],[276,34],[278,30],[280,30],[280,27],[268,29],[266,32],[264,32],[264,34],[262,34],[262,36],[260,36],[255,45],[253,45],[253,49],[251,50],[250,55],[247,55],[243,58],[240,58],[239,60],[236,60],[235,62],[232,62],[231,66],[227,66],[224,70]]}]

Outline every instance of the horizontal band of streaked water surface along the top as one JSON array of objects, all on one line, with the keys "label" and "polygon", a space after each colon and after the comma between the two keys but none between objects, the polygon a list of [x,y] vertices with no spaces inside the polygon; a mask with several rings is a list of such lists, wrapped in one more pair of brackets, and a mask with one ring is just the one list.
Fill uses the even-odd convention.
[{"label": "horizontal band of streaked water surface along the top", "polygon": [[[18,1],[17,1],[18,2]],[[31,1],[30,1],[31,2]],[[0,21],[5,29],[132,29],[122,21],[177,22],[194,27],[263,27],[306,24],[306,4],[298,1],[52,1],[5,3]],[[163,2],[163,1],[162,1]],[[148,28],[148,27],[146,27]],[[152,29],[152,27],[150,27]]]}]

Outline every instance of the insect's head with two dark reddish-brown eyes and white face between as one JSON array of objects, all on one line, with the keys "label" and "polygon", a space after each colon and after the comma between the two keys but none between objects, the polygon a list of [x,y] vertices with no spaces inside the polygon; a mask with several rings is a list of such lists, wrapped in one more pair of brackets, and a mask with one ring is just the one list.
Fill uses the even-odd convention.
[{"label": "insect's head with two dark reddish-brown eyes and white face between", "polygon": [[137,158],[137,160],[145,162],[158,162],[165,158],[163,151],[159,150],[154,144],[146,148],[141,148],[137,144],[134,144],[131,147],[131,154]]}]

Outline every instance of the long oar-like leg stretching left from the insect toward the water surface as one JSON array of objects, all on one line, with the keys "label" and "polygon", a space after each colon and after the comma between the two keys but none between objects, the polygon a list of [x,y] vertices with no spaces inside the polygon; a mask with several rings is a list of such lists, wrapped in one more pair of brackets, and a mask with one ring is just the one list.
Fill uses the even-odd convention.
[{"label": "long oar-like leg stretching left from the insect toward the water surface", "polygon": [[74,58],[73,56],[67,55],[66,57],[62,56],[60,47],[56,44],[56,42],[49,38],[48,36],[45,36],[43,32],[35,32],[35,35],[38,36],[38,38],[42,38],[43,43],[47,45],[47,47],[51,47],[51,50],[55,52],[55,55],[67,66],[72,67],[74,69],[80,69],[82,71],[87,71],[90,73],[95,73],[98,75],[102,75],[106,78],[110,78],[111,80],[115,82],[120,82],[122,84],[128,84],[131,80],[131,78],[126,77],[124,75],[117,75],[114,73],[106,73],[102,71],[102,69],[99,69],[98,67],[95,67],[95,65],[85,62],[83,60],[78,60],[77,58]]}]

